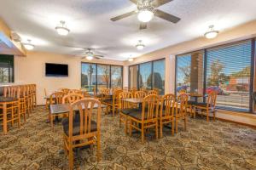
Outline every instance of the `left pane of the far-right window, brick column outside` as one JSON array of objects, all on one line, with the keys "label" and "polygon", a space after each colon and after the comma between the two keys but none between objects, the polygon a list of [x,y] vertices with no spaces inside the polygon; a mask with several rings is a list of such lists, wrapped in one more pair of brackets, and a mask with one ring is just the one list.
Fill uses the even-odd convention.
[{"label": "left pane of the far-right window, brick column outside", "polygon": [[204,93],[204,52],[198,51],[177,56],[176,92]]}]

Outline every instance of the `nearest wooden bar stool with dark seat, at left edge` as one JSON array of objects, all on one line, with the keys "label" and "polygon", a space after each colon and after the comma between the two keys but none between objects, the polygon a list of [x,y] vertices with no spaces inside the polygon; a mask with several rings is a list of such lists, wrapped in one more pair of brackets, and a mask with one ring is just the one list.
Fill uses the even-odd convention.
[{"label": "nearest wooden bar stool with dark seat, at left edge", "polygon": [[3,96],[0,97],[0,109],[3,117],[3,133],[7,134],[8,123],[14,126],[15,121],[18,122],[20,127],[20,88],[9,87],[3,89]]}]

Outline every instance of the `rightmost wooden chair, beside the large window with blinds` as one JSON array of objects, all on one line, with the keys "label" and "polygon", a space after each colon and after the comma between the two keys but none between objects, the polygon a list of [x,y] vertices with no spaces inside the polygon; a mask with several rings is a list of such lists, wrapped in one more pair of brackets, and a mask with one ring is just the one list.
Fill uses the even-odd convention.
[{"label": "rightmost wooden chair, beside the large window with blinds", "polygon": [[213,120],[215,121],[215,105],[217,100],[217,92],[211,92],[207,96],[207,103],[197,103],[194,105],[194,110],[199,111],[201,110],[201,113],[206,112],[207,115],[207,122],[209,122],[209,113],[212,111],[213,113]]}]

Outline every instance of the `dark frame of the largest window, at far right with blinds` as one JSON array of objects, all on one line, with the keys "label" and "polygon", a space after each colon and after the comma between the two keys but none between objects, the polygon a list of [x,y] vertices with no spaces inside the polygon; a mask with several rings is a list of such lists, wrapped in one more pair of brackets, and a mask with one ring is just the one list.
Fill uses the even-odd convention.
[{"label": "dark frame of the largest window, at far right with blinds", "polygon": [[[253,89],[254,89],[254,75],[255,75],[255,71],[254,71],[254,67],[256,65],[255,61],[256,61],[256,52],[255,52],[255,43],[256,43],[256,38],[253,37],[253,38],[248,38],[248,39],[244,39],[244,40],[240,40],[240,41],[236,41],[236,42],[229,42],[229,43],[224,43],[224,44],[221,44],[221,45],[217,45],[217,46],[212,46],[212,47],[209,47],[209,48],[201,48],[201,49],[198,49],[198,50],[195,50],[195,51],[191,51],[191,52],[187,52],[187,53],[183,53],[183,54],[177,54],[175,55],[175,84],[174,84],[174,92],[175,94],[177,94],[176,92],[176,89],[177,89],[177,58],[181,55],[185,55],[185,54],[192,54],[192,53],[195,53],[197,51],[203,51],[204,53],[204,63],[203,63],[203,66],[204,66],[204,77],[203,77],[203,95],[206,94],[206,91],[207,91],[207,50],[209,49],[214,49],[214,48],[224,48],[224,47],[229,47],[231,45],[234,45],[234,44],[239,44],[241,42],[251,42],[251,45],[252,45],[252,48],[251,48],[251,62],[250,62],[250,66],[251,66],[251,71],[250,71],[250,90],[249,90],[249,110],[248,111],[244,111],[242,110],[243,112],[248,112],[248,113],[253,113],[253,99],[251,98],[252,96],[252,93],[253,93]],[[204,102],[206,102],[206,99],[204,99]],[[218,107],[217,107],[218,108]],[[241,111],[241,109],[236,109],[236,108],[223,108],[221,107],[222,110],[224,111]]]}]

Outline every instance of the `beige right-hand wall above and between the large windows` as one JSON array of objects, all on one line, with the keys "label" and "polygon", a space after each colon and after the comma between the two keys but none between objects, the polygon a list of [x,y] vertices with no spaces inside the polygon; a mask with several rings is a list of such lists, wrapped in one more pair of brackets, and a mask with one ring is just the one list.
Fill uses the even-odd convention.
[{"label": "beige right-hand wall above and between the large windows", "polygon": [[[149,54],[145,54],[137,59],[134,59],[132,62],[125,61],[125,65],[135,65],[154,59],[166,58],[166,94],[173,93],[175,87],[175,55],[193,52],[203,48],[210,48],[228,42],[236,42],[252,37],[256,37],[256,20],[242,26],[237,26],[236,28],[228,31],[220,32],[218,37],[214,39],[209,40],[205,37],[200,37],[189,42],[182,42],[167,48],[156,50]],[[125,72],[125,74],[128,74],[128,72]]]}]

